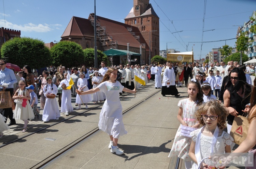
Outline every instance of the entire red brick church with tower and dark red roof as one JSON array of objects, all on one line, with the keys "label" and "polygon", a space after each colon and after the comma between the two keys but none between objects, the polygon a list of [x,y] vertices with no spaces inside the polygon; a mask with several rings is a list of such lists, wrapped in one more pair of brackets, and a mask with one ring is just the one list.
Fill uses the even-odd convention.
[{"label": "entire red brick church with tower and dark red roof", "polygon": [[[88,19],[73,16],[61,40],[74,41],[83,49],[94,48],[94,17],[94,13]],[[150,51],[151,58],[159,55],[159,18],[149,0],[133,0],[125,23],[96,17],[98,50],[127,50],[129,43],[129,51],[141,53],[140,64],[149,63]]]}]

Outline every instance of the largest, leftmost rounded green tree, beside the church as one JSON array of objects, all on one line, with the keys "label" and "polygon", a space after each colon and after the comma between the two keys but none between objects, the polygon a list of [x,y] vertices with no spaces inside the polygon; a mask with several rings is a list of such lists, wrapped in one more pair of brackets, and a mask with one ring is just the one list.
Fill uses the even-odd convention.
[{"label": "largest, leftmost rounded green tree, beside the church", "polygon": [[44,42],[29,37],[13,38],[1,47],[1,57],[8,57],[8,62],[23,68],[29,65],[32,69],[39,69],[51,65],[51,54]]}]

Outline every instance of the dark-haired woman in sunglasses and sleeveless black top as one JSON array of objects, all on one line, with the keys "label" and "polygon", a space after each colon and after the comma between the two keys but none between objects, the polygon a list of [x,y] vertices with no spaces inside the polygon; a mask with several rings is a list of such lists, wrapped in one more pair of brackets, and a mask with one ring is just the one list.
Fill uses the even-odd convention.
[{"label": "dark-haired woman in sunglasses and sleeveless black top", "polygon": [[244,72],[239,68],[234,68],[228,76],[230,80],[226,83],[223,99],[224,106],[229,112],[227,128],[230,133],[234,116],[243,115],[242,110],[250,103],[251,87],[246,82]]}]

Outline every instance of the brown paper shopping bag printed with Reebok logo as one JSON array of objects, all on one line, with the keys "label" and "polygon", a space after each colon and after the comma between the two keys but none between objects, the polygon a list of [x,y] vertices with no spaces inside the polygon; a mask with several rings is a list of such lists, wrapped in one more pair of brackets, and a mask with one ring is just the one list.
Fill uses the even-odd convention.
[{"label": "brown paper shopping bag printed with Reebok logo", "polygon": [[248,119],[244,116],[235,116],[230,131],[230,136],[233,137],[234,143],[240,145],[245,140],[249,128]]}]

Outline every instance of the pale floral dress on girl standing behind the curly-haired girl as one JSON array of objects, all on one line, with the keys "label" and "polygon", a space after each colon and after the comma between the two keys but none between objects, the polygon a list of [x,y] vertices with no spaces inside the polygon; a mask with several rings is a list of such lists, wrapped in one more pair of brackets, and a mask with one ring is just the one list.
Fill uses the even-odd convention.
[{"label": "pale floral dress on girl standing behind the curly-haired girl", "polygon": [[[182,99],[179,101],[178,106],[183,108],[183,117],[185,117],[185,112],[187,113],[187,120],[183,118],[185,122],[187,122],[188,126],[193,126],[197,124],[197,120],[194,117],[194,114],[197,109],[197,103],[194,101],[189,101],[188,98]],[[194,120],[195,119],[195,120]],[[192,161],[192,159],[188,156],[191,137],[185,137],[181,135],[181,126],[178,128],[171,152],[168,157],[180,157],[185,161]]]}]

